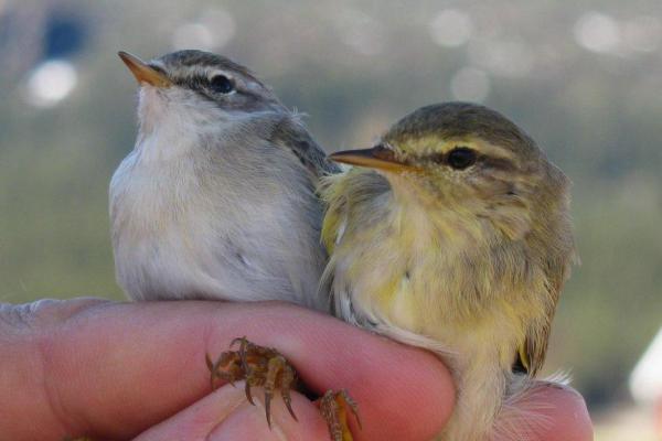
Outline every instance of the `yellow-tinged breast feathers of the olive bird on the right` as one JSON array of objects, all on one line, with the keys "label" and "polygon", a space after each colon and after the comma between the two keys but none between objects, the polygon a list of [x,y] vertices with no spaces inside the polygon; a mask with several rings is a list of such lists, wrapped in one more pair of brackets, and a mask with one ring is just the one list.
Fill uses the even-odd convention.
[{"label": "yellow-tinged breast feathers of the olive bird on the right", "polygon": [[[429,347],[431,338],[449,352],[501,346],[495,356],[509,366],[524,341],[524,323],[544,315],[546,304],[524,287],[498,280],[493,250],[477,245],[484,240],[476,235],[489,232],[471,219],[463,230],[453,229],[463,222],[453,216],[461,214],[431,218],[378,185],[370,196],[357,195],[346,190],[354,179],[356,173],[334,178],[323,191],[329,203],[323,240],[333,250],[327,277],[337,313],[366,327],[386,327],[396,338],[402,330],[401,340],[409,344],[417,344],[412,335],[420,335],[419,345]],[[509,265],[525,270],[516,247],[500,255],[505,252]]]}]

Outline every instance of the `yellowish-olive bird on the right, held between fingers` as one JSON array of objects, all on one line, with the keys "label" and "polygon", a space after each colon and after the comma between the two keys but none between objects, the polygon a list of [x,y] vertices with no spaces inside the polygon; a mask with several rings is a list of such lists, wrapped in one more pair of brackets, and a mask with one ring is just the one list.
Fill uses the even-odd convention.
[{"label": "yellowish-olive bird on the right, held between fingers", "polygon": [[534,439],[544,417],[521,412],[536,413],[526,398],[576,256],[569,180],[469,103],[421,107],[330,158],[351,165],[320,187],[334,314],[447,364],[457,397],[439,440]]}]

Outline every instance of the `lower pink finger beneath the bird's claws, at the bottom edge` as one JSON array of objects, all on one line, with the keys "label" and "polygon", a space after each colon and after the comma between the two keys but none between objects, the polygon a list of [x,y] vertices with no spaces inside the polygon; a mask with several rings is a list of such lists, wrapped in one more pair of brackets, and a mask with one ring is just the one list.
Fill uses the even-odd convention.
[{"label": "lower pink finger beneath the bird's claws, at the bottom edge", "polygon": [[[259,390],[259,389],[257,389]],[[223,386],[200,401],[191,405],[166,421],[147,430],[136,441],[190,440],[190,441],[312,441],[325,440],[327,429],[317,408],[305,397],[293,394],[300,419],[296,422],[282,406],[276,406],[271,415],[271,429],[265,420],[264,400],[256,397],[250,406],[243,392],[243,385]],[[275,400],[278,402],[278,400]]]}]

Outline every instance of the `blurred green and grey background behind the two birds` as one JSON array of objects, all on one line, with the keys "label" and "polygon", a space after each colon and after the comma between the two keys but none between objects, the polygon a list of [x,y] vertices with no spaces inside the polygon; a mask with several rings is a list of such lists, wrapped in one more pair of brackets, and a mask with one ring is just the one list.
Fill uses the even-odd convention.
[{"label": "blurred green and grey background behind the two birds", "polygon": [[122,299],[107,186],[136,83],[116,52],[192,47],[252,67],[328,151],[451,99],[524,127],[574,181],[583,260],[548,372],[597,440],[662,439],[661,357],[630,378],[662,324],[662,2],[0,0],[0,301]]}]

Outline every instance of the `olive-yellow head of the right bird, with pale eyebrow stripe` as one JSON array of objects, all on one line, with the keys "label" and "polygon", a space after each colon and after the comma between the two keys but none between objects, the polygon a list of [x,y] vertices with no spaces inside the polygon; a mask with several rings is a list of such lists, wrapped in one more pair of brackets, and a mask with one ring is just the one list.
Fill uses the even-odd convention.
[{"label": "olive-yellow head of the right bird, with pale eyebrow stripe", "polygon": [[565,175],[524,131],[483,106],[423,107],[372,149],[331,159],[376,170],[397,200],[423,206],[451,228],[477,230],[489,223],[516,239],[545,223],[552,211],[566,213]]}]

